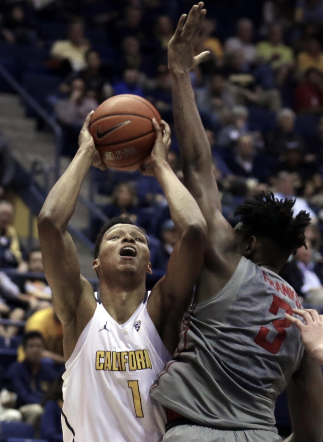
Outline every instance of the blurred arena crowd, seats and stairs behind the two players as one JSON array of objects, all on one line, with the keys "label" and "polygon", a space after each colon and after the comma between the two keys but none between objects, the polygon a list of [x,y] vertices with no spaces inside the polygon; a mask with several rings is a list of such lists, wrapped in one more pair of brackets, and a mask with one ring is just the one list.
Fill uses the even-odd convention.
[{"label": "blurred arena crowd, seats and stairs behind the two players", "polygon": [[[191,0],[2,0],[0,3],[0,438],[62,440],[62,332],[42,274],[36,219],[68,166],[87,113],[113,95],[141,95],[173,129],[167,44]],[[311,212],[308,250],[282,270],[305,305],[323,309],[323,1],[209,0],[191,73],[212,147],[223,211],[271,190]],[[181,179],[173,130],[171,167]],[[153,274],[176,242],[163,192],[138,171],[93,169],[70,232],[81,271],[92,271],[95,236],[126,214],[149,236]],[[25,324],[25,322],[27,323]],[[23,331],[38,330],[48,372],[19,378]],[[37,355],[36,355],[37,356]],[[13,364],[13,366],[11,365]],[[46,370],[45,370],[46,371]],[[54,373],[49,376],[48,373]],[[29,393],[26,393],[26,389]],[[28,406],[24,408],[25,406]],[[27,411],[26,411],[27,410]],[[45,410],[45,412],[44,412]],[[42,418],[41,418],[42,416]],[[285,394],[277,427],[289,434]],[[41,424],[39,419],[41,418]],[[18,440],[18,439],[17,439]]]}]

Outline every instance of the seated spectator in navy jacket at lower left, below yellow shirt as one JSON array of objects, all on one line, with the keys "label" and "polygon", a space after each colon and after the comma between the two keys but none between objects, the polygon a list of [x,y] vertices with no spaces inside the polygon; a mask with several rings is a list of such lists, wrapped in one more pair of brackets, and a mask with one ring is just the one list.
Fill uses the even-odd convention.
[{"label": "seated spectator in navy jacket at lower left, below yellow shirt", "polygon": [[49,362],[42,361],[44,339],[38,331],[30,331],[23,337],[25,359],[15,362],[9,369],[9,377],[13,390],[17,394],[17,405],[23,420],[39,427],[39,419],[43,409],[42,400],[56,372]]}]

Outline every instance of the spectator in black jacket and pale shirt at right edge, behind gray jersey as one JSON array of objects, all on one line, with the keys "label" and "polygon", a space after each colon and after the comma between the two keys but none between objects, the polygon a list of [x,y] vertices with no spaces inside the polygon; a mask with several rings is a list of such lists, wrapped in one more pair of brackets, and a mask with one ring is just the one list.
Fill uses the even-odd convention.
[{"label": "spectator in black jacket and pale shirt at right edge, behind gray jersey", "polygon": [[311,244],[296,251],[294,259],[283,267],[281,276],[305,302],[323,305],[323,263],[315,263]]}]

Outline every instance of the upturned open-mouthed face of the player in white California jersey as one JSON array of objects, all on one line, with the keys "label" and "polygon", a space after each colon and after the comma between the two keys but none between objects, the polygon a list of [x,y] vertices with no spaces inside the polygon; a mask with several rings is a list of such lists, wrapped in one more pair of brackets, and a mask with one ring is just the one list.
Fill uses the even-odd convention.
[{"label": "upturned open-mouthed face of the player in white California jersey", "polygon": [[[146,236],[131,224],[116,224],[103,236],[94,270],[151,273],[150,252]],[[96,268],[96,266],[99,266]]]}]

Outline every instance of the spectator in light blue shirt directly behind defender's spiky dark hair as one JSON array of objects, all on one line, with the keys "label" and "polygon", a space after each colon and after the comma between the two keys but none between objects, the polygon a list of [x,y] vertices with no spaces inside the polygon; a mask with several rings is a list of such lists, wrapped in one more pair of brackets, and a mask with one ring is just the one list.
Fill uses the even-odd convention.
[{"label": "spectator in light blue shirt directly behind defender's spiky dark hair", "polygon": [[315,224],[317,222],[316,214],[313,210],[308,206],[308,203],[300,197],[296,197],[296,177],[285,171],[281,171],[278,173],[275,179],[274,185],[274,195],[275,198],[285,199],[285,198],[293,198],[295,199],[295,204],[293,206],[294,217],[300,213],[301,210],[305,210],[308,212],[312,218],[312,223]]}]

